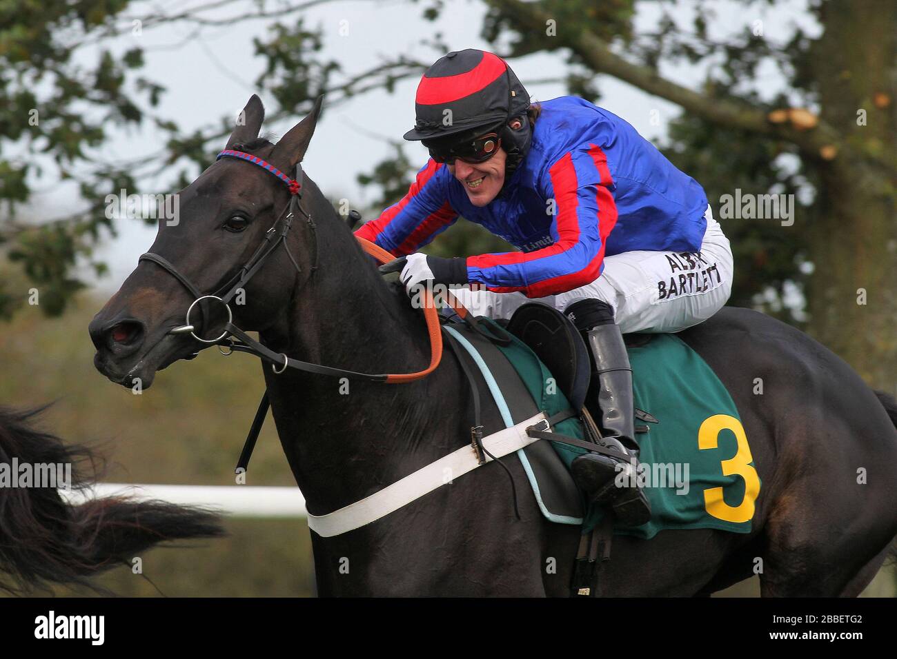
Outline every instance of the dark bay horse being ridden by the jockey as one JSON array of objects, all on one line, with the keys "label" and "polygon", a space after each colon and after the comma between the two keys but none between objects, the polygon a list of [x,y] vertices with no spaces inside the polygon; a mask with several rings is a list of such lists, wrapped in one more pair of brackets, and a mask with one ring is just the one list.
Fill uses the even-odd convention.
[{"label": "dark bay horse being ridden by the jockey", "polygon": [[[273,144],[257,136],[264,109],[253,96],[226,149],[292,172],[319,109],[320,100]],[[383,281],[308,178],[303,191],[314,225],[293,226],[285,248],[247,283],[245,304],[233,306],[234,324],[298,360],[366,373],[422,369],[429,344],[420,311],[400,286]],[[196,289],[216,290],[278,226],[289,200],[264,169],[218,160],[180,192],[181,219],[177,226],[161,221],[152,252]],[[150,386],[157,370],[204,347],[171,333],[193,301],[158,263],[140,262],[91,322],[97,369],[124,386],[135,377]],[[819,343],[748,309],[725,308],[680,335],[716,370],[741,412],[762,478],[753,532],[617,536],[600,594],[708,594],[755,569],[764,595],[858,594],[897,534],[897,405]],[[450,351],[429,377],[400,385],[346,384],[293,369],[277,375],[269,366],[277,432],[313,515],[469,442],[471,394]],[[763,395],[753,394],[757,377]],[[483,422],[502,427],[495,410],[484,412]],[[525,493],[521,464],[506,463]],[[519,507],[517,519],[507,478],[487,465],[374,524],[334,537],[312,533],[318,592],[569,594],[579,529],[547,522],[533,497],[520,496]]]}]

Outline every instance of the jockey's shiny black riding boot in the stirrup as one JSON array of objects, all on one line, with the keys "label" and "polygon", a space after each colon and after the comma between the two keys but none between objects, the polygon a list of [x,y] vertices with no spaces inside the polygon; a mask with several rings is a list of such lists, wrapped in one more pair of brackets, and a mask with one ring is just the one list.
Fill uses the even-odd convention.
[{"label": "jockey's shiny black riding boot in the stirrup", "polygon": [[[614,310],[602,300],[582,299],[565,311],[588,344],[595,369],[588,395],[601,411],[596,420],[603,448],[619,453],[579,455],[570,465],[573,479],[599,505],[609,505],[623,525],[649,522],[651,506],[636,478],[639,445],[635,441],[632,404],[632,369],[620,327],[614,324]],[[594,409],[594,407],[593,407]],[[618,473],[628,472],[623,487]]]}]

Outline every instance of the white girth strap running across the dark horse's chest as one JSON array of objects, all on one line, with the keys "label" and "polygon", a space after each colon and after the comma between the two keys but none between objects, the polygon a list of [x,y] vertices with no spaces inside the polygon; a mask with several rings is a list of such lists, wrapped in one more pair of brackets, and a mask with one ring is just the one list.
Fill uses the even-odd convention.
[{"label": "white girth strap running across the dark horse's chest", "polygon": [[[544,420],[544,412],[539,412],[527,421],[484,437],[483,447],[495,457],[514,453],[520,448],[539,441],[527,435],[527,428]],[[550,431],[547,422],[542,426],[539,428],[540,430]],[[492,462],[492,458],[488,456],[485,458],[487,463]],[[449,453],[436,462],[408,474],[401,481],[396,481],[383,490],[374,492],[370,497],[365,497],[361,501],[356,501],[328,515],[314,516],[309,513],[309,528],[325,538],[353,531],[371,522],[376,522],[380,517],[387,516],[400,507],[420,499],[424,494],[442,487],[446,484],[446,474],[450,474],[451,480],[455,480],[467,472],[474,471],[478,466],[481,465],[477,462],[474,447],[468,444],[466,447],[461,447],[454,453]]]}]

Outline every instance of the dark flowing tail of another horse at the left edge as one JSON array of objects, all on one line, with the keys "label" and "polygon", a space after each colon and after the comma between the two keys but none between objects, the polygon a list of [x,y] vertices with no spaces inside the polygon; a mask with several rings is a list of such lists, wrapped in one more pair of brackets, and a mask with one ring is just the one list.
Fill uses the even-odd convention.
[{"label": "dark flowing tail of another horse at the left edge", "polygon": [[[30,593],[54,583],[101,590],[88,578],[129,565],[140,551],[159,542],[223,534],[218,516],[203,508],[126,497],[73,505],[60,496],[58,481],[36,482],[38,469],[46,475],[49,465],[63,465],[53,470],[65,474],[67,482],[61,486],[83,490],[96,480],[102,464],[91,449],[34,429],[33,418],[45,409],[0,406],[0,470],[6,466],[6,478],[22,485],[4,484],[0,471],[0,592]],[[25,464],[30,467],[23,471]],[[27,471],[33,474],[30,482],[22,481]]]}]

